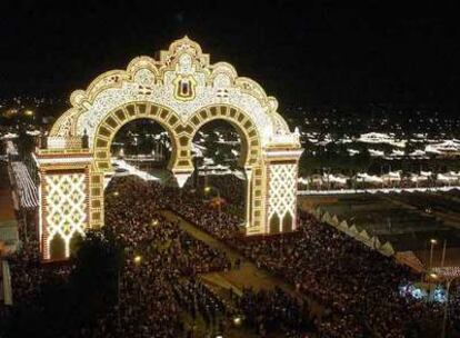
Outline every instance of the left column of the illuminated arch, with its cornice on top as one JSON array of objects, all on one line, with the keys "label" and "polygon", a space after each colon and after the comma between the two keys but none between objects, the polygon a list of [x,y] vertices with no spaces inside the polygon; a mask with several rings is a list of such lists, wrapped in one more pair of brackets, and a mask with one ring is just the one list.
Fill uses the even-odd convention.
[{"label": "left column of the illuminated arch, with its cornice on top", "polygon": [[[69,139],[62,139],[68,142]],[[40,149],[34,153],[39,167],[39,239],[44,260],[51,257],[54,237],[64,241],[64,257],[70,256],[70,242],[86,228],[100,223],[92,217],[92,153],[88,149]]]}]

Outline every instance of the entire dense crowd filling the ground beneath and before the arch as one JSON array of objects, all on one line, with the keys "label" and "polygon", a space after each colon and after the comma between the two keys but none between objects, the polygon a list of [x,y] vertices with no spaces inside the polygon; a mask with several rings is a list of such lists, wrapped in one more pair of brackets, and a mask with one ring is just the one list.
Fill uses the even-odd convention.
[{"label": "entire dense crowd filling the ground beneath and before the arch", "polygon": [[[237,249],[247,259],[289,281],[323,307],[310,322],[304,308],[283,291],[246,289],[236,307],[210,291],[200,274],[232,268],[223,251],[213,249],[168,220],[161,210],[182,218]],[[197,318],[214,332],[236,311],[263,337],[316,331],[317,337],[433,337],[440,331],[443,305],[402,296],[401,286],[419,276],[392,258],[366,247],[308,213],[298,230],[262,238],[241,236],[242,219],[209,207],[202,193],[181,191],[134,177],[114,179],[106,190],[106,227],[123,243],[127,261],[119,277],[116,308],[72,337],[184,337]],[[30,240],[10,259],[14,301],[32,304],[50,269],[66,275],[70,267],[42,266],[38,242]],[[448,330],[458,332],[460,292],[451,288]],[[456,324],[457,322],[457,324]],[[298,335],[298,336],[296,336]]]}]

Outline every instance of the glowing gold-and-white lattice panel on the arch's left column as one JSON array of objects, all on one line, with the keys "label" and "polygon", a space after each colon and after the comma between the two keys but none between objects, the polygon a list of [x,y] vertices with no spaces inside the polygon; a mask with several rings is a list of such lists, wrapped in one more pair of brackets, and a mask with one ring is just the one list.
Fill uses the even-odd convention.
[{"label": "glowing gold-and-white lattice panel on the arch's left column", "polygon": [[[46,175],[47,245],[59,233],[66,241],[66,257],[76,232],[83,235],[87,225],[84,173]],[[49,252],[46,252],[49,257]]]}]

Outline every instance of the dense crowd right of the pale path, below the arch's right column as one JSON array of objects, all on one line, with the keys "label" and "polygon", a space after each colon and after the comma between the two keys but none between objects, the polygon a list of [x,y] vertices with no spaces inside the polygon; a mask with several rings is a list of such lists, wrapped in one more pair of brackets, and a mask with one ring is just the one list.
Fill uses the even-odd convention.
[{"label": "dense crowd right of the pale path, below the arch's right column", "polygon": [[[399,286],[413,281],[393,260],[303,215],[299,232],[250,241],[240,249],[326,306],[319,330],[327,337],[407,337],[421,322]],[[411,319],[409,319],[411,317]]]}]

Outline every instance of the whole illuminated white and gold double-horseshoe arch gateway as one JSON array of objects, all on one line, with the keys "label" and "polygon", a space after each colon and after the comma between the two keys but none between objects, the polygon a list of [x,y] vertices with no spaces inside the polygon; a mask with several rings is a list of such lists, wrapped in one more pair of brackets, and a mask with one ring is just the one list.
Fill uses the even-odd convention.
[{"label": "whole illuminated white and gold double-horseshoe arch gateway", "polygon": [[[40,238],[43,259],[50,242],[66,242],[86,228],[103,226],[104,181],[113,175],[110,145],[136,119],[160,123],[172,141],[168,169],[180,187],[193,171],[191,142],[201,126],[230,122],[241,137],[240,166],[247,175],[246,233],[296,228],[299,136],[278,113],[278,101],[227,62],[210,63],[189,38],[172,42],[159,60],[133,59],[127,70],[96,78],[70,97],[71,108],[53,125],[47,149],[37,150]],[[88,147],[82,141],[88,137]]]}]

